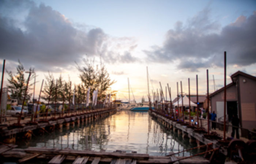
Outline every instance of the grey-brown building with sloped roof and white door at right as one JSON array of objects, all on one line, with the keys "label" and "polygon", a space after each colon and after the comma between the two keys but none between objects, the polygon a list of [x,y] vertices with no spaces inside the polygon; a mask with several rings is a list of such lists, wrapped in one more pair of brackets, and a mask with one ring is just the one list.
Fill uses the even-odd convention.
[{"label": "grey-brown building with sloped roof and white door at right", "polygon": [[[226,85],[226,118],[231,121],[232,114],[237,114],[242,128],[256,129],[256,77],[237,71],[231,75],[231,80]],[[223,121],[224,87],[209,97],[217,121]]]}]

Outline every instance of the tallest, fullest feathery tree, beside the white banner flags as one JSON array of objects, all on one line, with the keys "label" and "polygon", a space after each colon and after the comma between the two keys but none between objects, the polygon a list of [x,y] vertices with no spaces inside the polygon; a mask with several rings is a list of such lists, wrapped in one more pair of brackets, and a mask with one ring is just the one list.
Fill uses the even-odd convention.
[{"label": "tallest, fullest feathery tree, beside the white banner flags", "polygon": [[80,71],[79,77],[86,89],[91,87],[90,99],[93,97],[93,91],[98,89],[98,100],[102,101],[105,99],[106,91],[115,81],[110,79],[109,73],[102,63],[99,67],[94,65],[94,60],[83,59],[83,62],[84,66],[79,66],[76,63]]}]

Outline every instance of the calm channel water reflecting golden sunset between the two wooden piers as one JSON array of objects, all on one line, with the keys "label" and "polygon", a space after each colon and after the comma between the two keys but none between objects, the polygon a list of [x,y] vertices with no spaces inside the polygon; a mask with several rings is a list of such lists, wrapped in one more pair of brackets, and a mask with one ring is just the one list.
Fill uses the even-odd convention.
[{"label": "calm channel water reflecting golden sunset between the two wooden piers", "polygon": [[[167,155],[169,152],[178,152],[195,147],[183,140],[172,131],[165,130],[147,112],[121,111],[96,121],[89,125],[57,130],[44,136],[33,138],[26,145],[20,147],[49,147],[71,148],[76,150],[93,150],[113,152],[137,151],[150,155]],[[189,156],[197,153],[180,153],[179,156]]]}]

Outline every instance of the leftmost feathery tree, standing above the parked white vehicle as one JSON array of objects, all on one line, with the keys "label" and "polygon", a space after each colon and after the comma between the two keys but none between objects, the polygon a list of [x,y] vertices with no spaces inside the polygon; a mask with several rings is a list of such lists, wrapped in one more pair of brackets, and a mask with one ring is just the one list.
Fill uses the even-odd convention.
[{"label": "leftmost feathery tree, standing above the parked white vehicle", "polygon": [[[8,91],[11,94],[10,95],[11,98],[17,99],[18,104],[22,104],[28,79],[25,79],[25,76],[24,76],[24,73],[25,73],[24,66],[19,60],[18,62],[19,62],[19,65],[16,67],[16,70],[17,70],[16,74],[13,74],[12,71],[6,71],[10,77],[8,79],[9,84],[7,85],[7,87],[8,87]],[[34,69],[30,68],[29,71],[33,73]],[[33,79],[33,77],[34,77],[34,74],[31,74],[30,79]],[[27,93],[26,93],[26,101],[28,101],[31,97],[31,94],[29,94],[29,90],[30,88],[28,87]]]}]

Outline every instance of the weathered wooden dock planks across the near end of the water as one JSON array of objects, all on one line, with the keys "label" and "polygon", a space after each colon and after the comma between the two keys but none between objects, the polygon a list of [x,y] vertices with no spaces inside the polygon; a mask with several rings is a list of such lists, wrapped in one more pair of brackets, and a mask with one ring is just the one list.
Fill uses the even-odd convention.
[{"label": "weathered wooden dock planks across the near end of the water", "polygon": [[[13,147],[14,145],[12,145]],[[57,148],[37,148],[29,147],[20,149],[13,147],[10,149],[7,145],[0,145],[0,150],[7,150],[0,153],[3,158],[16,159],[19,162],[25,162],[31,159],[45,159],[49,164],[61,164],[63,161],[69,161],[73,164],[167,164],[173,163],[178,157],[175,156],[150,156],[148,154],[116,152],[94,152],[87,150],[57,149]],[[178,163],[207,164],[209,160],[203,157],[192,157],[184,159]]]}]

